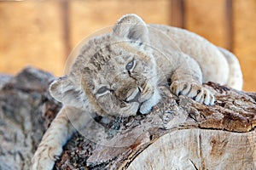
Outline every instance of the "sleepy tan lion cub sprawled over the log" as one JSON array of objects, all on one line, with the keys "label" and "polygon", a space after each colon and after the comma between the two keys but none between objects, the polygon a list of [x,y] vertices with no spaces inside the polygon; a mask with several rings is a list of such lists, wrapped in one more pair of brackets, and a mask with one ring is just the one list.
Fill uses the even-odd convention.
[{"label": "sleepy tan lion cub sprawled over the log", "polygon": [[92,112],[100,116],[147,114],[161,99],[161,83],[171,84],[173,94],[213,105],[213,94],[201,85],[208,81],[241,89],[236,57],[195,33],[146,25],[136,14],[127,14],[113,32],[90,39],[69,74],[51,83],[50,94],[63,108],[44,134],[32,169],[52,169],[61,156],[63,144],[75,131],[67,115],[81,125],[77,128],[83,128],[84,115]]}]

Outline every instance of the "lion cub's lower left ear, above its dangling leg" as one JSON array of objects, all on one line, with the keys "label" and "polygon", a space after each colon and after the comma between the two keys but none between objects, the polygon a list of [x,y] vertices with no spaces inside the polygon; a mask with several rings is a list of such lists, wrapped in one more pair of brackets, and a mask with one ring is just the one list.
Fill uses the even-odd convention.
[{"label": "lion cub's lower left ear, above its dangling leg", "polygon": [[60,77],[49,86],[50,95],[64,105],[79,107],[83,105],[81,90],[68,78]]}]

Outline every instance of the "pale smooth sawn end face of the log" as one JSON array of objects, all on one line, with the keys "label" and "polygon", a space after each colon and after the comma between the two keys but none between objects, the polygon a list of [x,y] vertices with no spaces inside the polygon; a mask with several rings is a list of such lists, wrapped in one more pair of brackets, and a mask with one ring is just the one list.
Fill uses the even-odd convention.
[{"label": "pale smooth sawn end face of the log", "polygon": [[[253,169],[255,132],[184,129],[167,133],[129,165],[137,169]],[[239,141],[239,143],[237,143]],[[253,142],[253,143],[251,143]],[[250,145],[251,143],[251,145]],[[238,154],[239,153],[239,154]]]}]

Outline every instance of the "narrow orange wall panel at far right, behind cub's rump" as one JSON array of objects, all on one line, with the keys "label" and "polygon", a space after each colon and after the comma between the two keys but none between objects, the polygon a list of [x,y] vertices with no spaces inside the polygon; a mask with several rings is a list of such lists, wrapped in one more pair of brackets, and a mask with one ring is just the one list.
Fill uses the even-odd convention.
[{"label": "narrow orange wall panel at far right, behind cub's rump", "polygon": [[235,0],[234,53],[241,63],[244,90],[256,91],[256,1]]}]

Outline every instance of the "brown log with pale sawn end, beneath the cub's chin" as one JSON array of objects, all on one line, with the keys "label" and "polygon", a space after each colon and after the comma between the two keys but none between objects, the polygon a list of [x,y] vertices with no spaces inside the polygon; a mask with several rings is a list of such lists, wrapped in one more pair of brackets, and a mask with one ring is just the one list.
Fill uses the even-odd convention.
[{"label": "brown log with pale sawn end, beneath the cub's chin", "polygon": [[165,97],[150,114],[106,127],[119,130],[108,142],[75,135],[57,169],[255,169],[256,94],[205,86],[215,93],[214,106],[163,87]]}]

